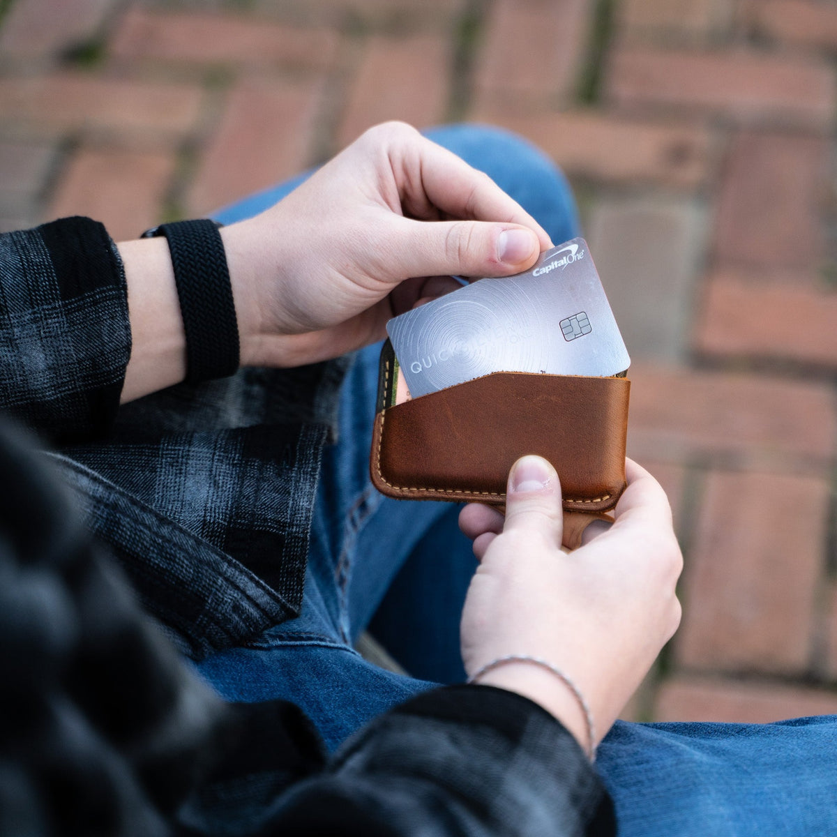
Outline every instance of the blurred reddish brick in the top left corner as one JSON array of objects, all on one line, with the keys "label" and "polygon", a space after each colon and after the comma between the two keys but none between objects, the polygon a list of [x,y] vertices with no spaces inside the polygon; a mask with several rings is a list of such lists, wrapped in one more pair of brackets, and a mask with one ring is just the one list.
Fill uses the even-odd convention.
[{"label": "blurred reddish brick in the top left corner", "polygon": [[37,59],[94,36],[115,0],[18,0],[0,29],[0,54]]}]

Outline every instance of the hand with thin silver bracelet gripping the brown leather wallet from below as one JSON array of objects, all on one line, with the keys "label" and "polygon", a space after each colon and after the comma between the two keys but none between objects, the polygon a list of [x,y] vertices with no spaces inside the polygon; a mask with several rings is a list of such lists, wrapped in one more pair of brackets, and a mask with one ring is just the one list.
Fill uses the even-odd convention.
[{"label": "hand with thin silver bracelet gripping the brown leather wallet from below", "polygon": [[[505,519],[475,504],[460,513],[480,559],[462,614],[465,671],[512,654],[549,660],[587,697],[599,739],[680,624],[682,557],[668,500],[635,462],[626,472],[613,526],[575,552],[561,548],[561,486],[540,457],[512,467]],[[552,673],[514,662],[479,682],[530,697],[590,743],[577,701]]]}]

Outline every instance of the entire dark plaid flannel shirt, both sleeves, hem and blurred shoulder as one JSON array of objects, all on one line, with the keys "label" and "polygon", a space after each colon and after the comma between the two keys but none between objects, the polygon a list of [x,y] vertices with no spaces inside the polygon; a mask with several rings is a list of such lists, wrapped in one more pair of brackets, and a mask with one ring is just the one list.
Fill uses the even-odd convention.
[{"label": "entire dark plaid flannel shirt, both sleeves, hem and blurred shoulder", "polygon": [[64,445],[0,424],[0,837],[613,834],[581,748],[519,696],[429,692],[326,760],[298,707],[198,679],[162,629],[198,659],[299,609],[341,363],[115,418],[130,348],[99,224],[0,235],[0,408]]}]

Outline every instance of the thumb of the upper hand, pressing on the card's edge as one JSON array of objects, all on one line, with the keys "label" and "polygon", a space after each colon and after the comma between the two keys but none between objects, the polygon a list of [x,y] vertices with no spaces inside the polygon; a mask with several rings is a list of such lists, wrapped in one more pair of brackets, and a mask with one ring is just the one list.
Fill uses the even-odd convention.
[{"label": "thumb of the upper hand, pressing on the card's edge", "polygon": [[508,276],[531,267],[541,252],[537,235],[516,224],[406,220],[403,229],[405,276]]}]

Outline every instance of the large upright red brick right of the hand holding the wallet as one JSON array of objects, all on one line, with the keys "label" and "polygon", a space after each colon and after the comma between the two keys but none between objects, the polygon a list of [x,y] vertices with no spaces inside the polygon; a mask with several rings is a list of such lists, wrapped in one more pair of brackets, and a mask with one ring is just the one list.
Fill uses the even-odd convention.
[{"label": "large upright red brick right of the hand holding the wallet", "polygon": [[711,472],[683,583],[680,665],[799,675],[812,651],[829,486]]}]

